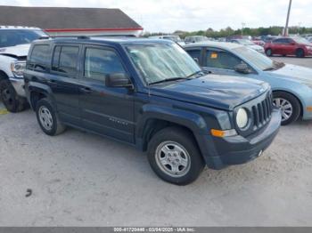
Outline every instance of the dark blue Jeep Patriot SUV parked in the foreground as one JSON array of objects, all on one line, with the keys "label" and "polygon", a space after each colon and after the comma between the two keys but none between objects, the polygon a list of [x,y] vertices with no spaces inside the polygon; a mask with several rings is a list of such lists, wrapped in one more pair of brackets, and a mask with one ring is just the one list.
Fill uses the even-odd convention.
[{"label": "dark blue Jeep Patriot SUV parked in the foreground", "polygon": [[147,150],[152,170],[179,185],[205,165],[259,157],[281,124],[268,84],[204,73],[166,40],[37,40],[25,89],[46,134],[69,125]]}]

